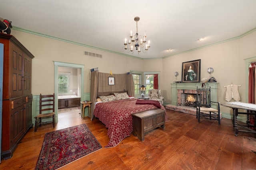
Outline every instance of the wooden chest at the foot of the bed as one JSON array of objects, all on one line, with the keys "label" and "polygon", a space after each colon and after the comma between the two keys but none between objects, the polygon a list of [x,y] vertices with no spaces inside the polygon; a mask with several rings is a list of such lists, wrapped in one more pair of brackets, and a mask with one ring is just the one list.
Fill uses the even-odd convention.
[{"label": "wooden chest at the foot of the bed", "polygon": [[165,129],[165,111],[152,109],[132,114],[132,134],[144,141],[144,135],[157,127]]}]

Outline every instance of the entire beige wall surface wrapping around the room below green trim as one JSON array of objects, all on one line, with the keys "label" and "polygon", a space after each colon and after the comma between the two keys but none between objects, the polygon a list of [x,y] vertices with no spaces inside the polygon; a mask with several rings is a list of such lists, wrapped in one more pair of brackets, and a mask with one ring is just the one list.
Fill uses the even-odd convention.
[{"label": "entire beige wall surface wrapping around the room below green trim", "polygon": [[[224,86],[242,85],[239,88],[241,102],[246,101],[246,77],[244,59],[256,57],[256,31],[241,38],[209,47],[181,53],[164,59],[136,59],[73,43],[58,41],[38,35],[12,30],[14,35],[34,56],[32,61],[32,94],[54,92],[54,63],[60,61],[84,64],[84,92],[90,92],[90,68],[98,67],[100,72],[119,74],[136,71],[160,71],[160,88],[164,102],[171,102],[171,83],[181,81],[182,63],[201,59],[201,78],[209,78],[207,68],[214,68],[212,76],[219,82],[218,101],[226,102]],[[84,51],[102,54],[103,59],[84,56]],[[174,72],[178,71],[176,78]],[[222,112],[231,109],[221,106]]]}]

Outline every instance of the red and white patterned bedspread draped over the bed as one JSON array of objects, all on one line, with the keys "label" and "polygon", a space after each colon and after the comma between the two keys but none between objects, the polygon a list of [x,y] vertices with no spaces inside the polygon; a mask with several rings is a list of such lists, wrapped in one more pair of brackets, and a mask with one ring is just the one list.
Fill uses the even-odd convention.
[{"label": "red and white patterned bedspread draped over the bed", "polygon": [[[110,141],[105,147],[115,147],[125,137],[132,133],[132,113],[157,108],[150,104],[136,104],[137,99],[115,100],[98,103],[94,109],[94,116],[108,128]],[[164,106],[161,104],[161,109]]]}]

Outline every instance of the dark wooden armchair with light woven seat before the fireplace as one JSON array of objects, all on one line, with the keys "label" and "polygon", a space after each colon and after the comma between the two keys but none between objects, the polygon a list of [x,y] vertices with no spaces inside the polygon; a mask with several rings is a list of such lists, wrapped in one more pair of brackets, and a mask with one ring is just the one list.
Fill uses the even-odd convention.
[{"label": "dark wooden armchair with light woven seat before the fireplace", "polygon": [[211,88],[196,87],[196,118],[198,122],[200,119],[218,120],[220,125],[220,103],[211,101]]}]

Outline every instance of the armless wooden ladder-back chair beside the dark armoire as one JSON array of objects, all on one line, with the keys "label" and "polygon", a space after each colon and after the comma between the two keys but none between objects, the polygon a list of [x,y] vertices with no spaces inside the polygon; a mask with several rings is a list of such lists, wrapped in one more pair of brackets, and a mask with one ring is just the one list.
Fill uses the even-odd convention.
[{"label": "armless wooden ladder-back chair beside the dark armoire", "polygon": [[[55,113],[54,113],[54,103],[55,103],[55,95],[54,94],[40,94],[39,100],[39,114],[34,117],[35,118],[35,132],[37,130],[37,126],[41,127],[43,124],[51,123],[53,127],[55,127]],[[52,121],[44,121],[42,122],[42,118],[52,117]],[[39,120],[38,120],[39,119]]]}]

